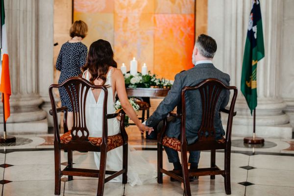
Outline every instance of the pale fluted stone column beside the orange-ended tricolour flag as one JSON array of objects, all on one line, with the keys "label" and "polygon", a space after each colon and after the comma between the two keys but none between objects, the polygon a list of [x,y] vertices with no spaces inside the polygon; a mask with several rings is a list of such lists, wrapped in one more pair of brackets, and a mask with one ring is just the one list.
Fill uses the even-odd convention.
[{"label": "pale fluted stone column beside the orange-ended tricolour flag", "polygon": [[[39,94],[39,86],[42,85],[39,79],[45,77],[40,75],[38,66],[40,2],[39,0],[4,0],[4,3],[12,88],[11,116],[7,121],[7,132],[47,132],[47,113],[40,108],[43,98]],[[45,47],[48,46],[42,46],[43,49]],[[1,116],[0,121],[2,121]],[[0,128],[3,129],[3,126],[0,125]]]}]

